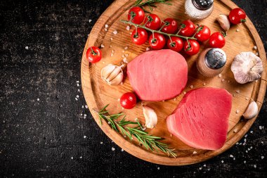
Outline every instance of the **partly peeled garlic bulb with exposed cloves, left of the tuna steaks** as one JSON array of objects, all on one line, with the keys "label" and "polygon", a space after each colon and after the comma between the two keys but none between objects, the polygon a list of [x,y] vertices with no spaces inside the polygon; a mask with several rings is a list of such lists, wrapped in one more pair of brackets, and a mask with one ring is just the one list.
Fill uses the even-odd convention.
[{"label": "partly peeled garlic bulb with exposed cloves, left of the tuna steaks", "polygon": [[110,85],[118,85],[122,83],[124,64],[121,66],[109,64],[101,70],[102,79]]}]

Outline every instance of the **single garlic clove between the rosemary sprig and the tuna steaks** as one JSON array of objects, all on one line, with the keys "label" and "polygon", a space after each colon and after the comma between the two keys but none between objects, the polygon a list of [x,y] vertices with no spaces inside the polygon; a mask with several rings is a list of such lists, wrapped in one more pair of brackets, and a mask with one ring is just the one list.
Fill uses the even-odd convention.
[{"label": "single garlic clove between the rosemary sprig and the tuna steaks", "polygon": [[143,115],[145,116],[145,127],[152,129],[157,125],[157,114],[155,110],[148,106],[143,106]]}]

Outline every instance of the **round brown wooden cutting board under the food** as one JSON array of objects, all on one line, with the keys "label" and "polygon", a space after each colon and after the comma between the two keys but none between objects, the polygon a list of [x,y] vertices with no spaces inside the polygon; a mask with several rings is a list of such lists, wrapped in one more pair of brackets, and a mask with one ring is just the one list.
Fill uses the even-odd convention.
[{"label": "round brown wooden cutting board under the food", "polygon": [[[128,78],[126,77],[124,84],[112,87],[105,84],[100,77],[100,70],[105,65],[108,65],[109,63],[119,65],[122,61],[122,55],[125,53],[129,54],[127,60],[131,61],[134,57],[143,53],[149,46],[148,42],[142,46],[132,44],[130,32],[133,30],[133,27],[131,27],[130,31],[127,31],[126,25],[119,22],[121,19],[126,20],[126,8],[132,6],[133,3],[133,0],[115,1],[100,16],[97,23],[93,26],[89,38],[87,39],[86,46],[84,47],[81,66],[82,89],[93,118],[96,120],[103,132],[105,132],[110,139],[115,141],[117,145],[122,147],[128,153],[152,163],[162,165],[189,165],[199,163],[223,153],[223,151],[226,151],[239,141],[256,120],[256,117],[252,120],[242,120],[242,113],[244,113],[250,102],[250,99],[248,98],[256,101],[259,108],[261,108],[266,92],[266,53],[254,25],[249,18],[247,18],[247,22],[245,24],[233,25],[228,31],[226,46],[223,47],[223,50],[226,51],[228,58],[226,68],[221,73],[222,77],[203,77],[199,72],[197,72],[197,68],[195,66],[197,55],[186,57],[189,73],[188,84],[184,91],[189,91],[191,89],[190,86],[193,86],[193,88],[219,87],[227,89],[231,94],[233,94],[233,106],[229,118],[227,141],[222,148],[216,151],[198,150],[186,146],[175,136],[170,135],[165,119],[174,111],[184,94],[181,94],[180,96],[177,96],[176,99],[171,99],[169,101],[145,101],[147,106],[155,109],[158,116],[157,126],[154,129],[146,129],[146,131],[150,134],[163,137],[164,143],[169,144],[172,148],[176,148],[178,157],[170,158],[162,153],[148,151],[145,148],[138,146],[136,141],[129,141],[129,139],[126,139],[121,134],[113,131],[107,122],[103,122],[103,125],[100,125],[98,115],[92,112],[93,108],[99,110],[100,108],[103,108],[103,106],[110,104],[110,106],[108,106],[110,113],[119,113],[123,111],[126,114],[127,120],[134,120],[138,117],[138,119],[144,123],[141,102],[139,102],[137,106],[131,110],[123,110],[119,104],[118,98],[120,98],[120,96],[122,96],[125,92],[132,91]],[[184,12],[184,1],[171,1],[171,4],[172,6],[157,4],[157,8],[155,8],[153,13],[156,13],[162,19],[167,17],[175,18],[178,22],[188,19]],[[233,4],[232,1],[214,1],[214,11],[209,18],[202,21],[195,21],[195,23],[209,26],[211,28],[211,32],[219,32],[221,31],[221,28],[215,20],[217,15],[221,13],[228,14],[230,9],[235,7],[237,6]],[[107,31],[105,30],[106,24],[108,25]],[[237,29],[239,32],[237,32]],[[115,30],[117,30],[117,34],[113,34]],[[105,46],[102,48],[102,60],[93,65],[89,64],[85,57],[86,49],[88,49],[89,46],[100,46],[101,44]],[[253,49],[254,46],[257,46],[256,51]],[[127,49],[124,49],[125,47],[127,47]],[[200,50],[202,51],[204,48],[207,48],[207,44],[202,44]],[[112,50],[115,51],[113,56],[111,56]],[[264,72],[261,80],[258,80],[257,82],[250,82],[248,84],[238,84],[235,82],[233,72],[230,71],[230,64],[232,63],[234,56],[242,51],[253,51],[254,53],[259,53],[259,57],[263,61],[264,65]],[[237,90],[240,90],[240,93],[237,93]],[[240,112],[237,113],[236,110],[240,110]],[[193,154],[194,151],[197,153]]]}]

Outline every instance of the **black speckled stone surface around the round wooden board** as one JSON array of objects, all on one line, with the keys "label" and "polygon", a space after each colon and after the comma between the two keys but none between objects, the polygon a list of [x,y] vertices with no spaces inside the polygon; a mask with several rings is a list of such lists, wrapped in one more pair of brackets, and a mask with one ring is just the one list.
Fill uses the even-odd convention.
[{"label": "black speckled stone surface around the round wooden board", "polygon": [[[234,2],[267,47],[266,0]],[[148,163],[105,136],[77,81],[87,35],[111,3],[0,1],[0,177],[266,177],[266,98],[247,144],[204,163]]]}]

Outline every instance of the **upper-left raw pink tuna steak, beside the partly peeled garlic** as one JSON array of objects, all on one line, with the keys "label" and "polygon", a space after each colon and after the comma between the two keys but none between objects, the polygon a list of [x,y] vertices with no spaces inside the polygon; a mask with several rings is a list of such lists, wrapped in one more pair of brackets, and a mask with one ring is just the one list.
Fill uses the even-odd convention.
[{"label": "upper-left raw pink tuna steak, beside the partly peeled garlic", "polygon": [[163,101],[181,94],[188,81],[188,65],[170,49],[147,51],[127,65],[127,75],[141,100]]}]

